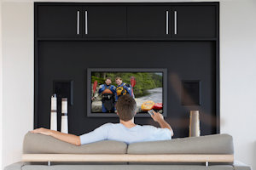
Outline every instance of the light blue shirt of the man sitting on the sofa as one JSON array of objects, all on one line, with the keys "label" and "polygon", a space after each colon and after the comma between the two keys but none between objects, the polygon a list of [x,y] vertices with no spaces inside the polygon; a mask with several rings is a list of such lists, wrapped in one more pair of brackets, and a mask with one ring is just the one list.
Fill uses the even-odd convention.
[{"label": "light blue shirt of the man sitting on the sofa", "polygon": [[101,140],[116,140],[131,144],[155,140],[170,140],[172,133],[168,128],[154,127],[151,125],[136,125],[127,128],[122,123],[106,123],[97,127],[90,133],[79,136],[81,144],[89,144]]}]

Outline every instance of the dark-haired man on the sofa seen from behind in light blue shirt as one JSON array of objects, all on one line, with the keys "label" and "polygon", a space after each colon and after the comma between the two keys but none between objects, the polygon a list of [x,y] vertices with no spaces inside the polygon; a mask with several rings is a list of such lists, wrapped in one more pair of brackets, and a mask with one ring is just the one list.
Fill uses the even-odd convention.
[{"label": "dark-haired man on the sofa seen from behind in light blue shirt", "polygon": [[50,135],[56,139],[76,145],[89,144],[101,140],[117,140],[131,144],[134,142],[172,139],[172,127],[164,120],[160,113],[154,112],[154,115],[152,115],[152,118],[160,124],[160,127],[135,124],[136,108],[135,99],[130,95],[123,95],[116,104],[119,123],[106,123],[101,127],[97,127],[94,131],[80,136],[60,133],[46,128],[38,128],[31,132]]}]

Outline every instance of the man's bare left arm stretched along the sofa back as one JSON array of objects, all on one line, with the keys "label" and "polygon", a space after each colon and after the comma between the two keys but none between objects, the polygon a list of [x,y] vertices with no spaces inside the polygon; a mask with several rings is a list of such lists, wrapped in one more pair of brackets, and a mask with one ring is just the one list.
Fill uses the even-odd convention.
[{"label": "man's bare left arm stretched along the sofa back", "polygon": [[45,135],[49,135],[54,137],[55,139],[60,139],[64,142],[68,142],[69,144],[75,144],[75,145],[81,145],[81,141],[79,136],[76,136],[74,134],[68,134],[68,133],[61,133],[59,131],[55,130],[49,130],[47,128],[37,128],[35,130],[30,131],[31,133],[42,133]]}]

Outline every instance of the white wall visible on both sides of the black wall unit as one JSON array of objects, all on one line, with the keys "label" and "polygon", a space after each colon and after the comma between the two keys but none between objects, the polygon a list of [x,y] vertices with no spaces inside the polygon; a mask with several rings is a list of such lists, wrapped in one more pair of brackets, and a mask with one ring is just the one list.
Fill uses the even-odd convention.
[{"label": "white wall visible on both sides of the black wall unit", "polygon": [[[33,125],[33,3],[22,1],[3,3],[3,167],[20,161],[21,141]],[[254,169],[255,20],[255,0],[221,0],[220,129],[234,137],[236,159]]]}]

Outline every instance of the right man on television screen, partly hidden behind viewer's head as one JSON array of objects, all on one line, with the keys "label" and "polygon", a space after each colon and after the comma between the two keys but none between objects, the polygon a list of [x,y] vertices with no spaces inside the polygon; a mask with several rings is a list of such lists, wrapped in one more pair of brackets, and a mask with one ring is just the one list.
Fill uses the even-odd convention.
[{"label": "right man on television screen, partly hidden behind viewer's head", "polygon": [[121,95],[124,95],[124,94],[130,94],[132,97],[134,97],[134,95],[131,92],[131,86],[123,82],[121,77],[116,77],[115,82],[118,85],[116,88],[116,97],[115,97],[116,101],[119,99]]}]

